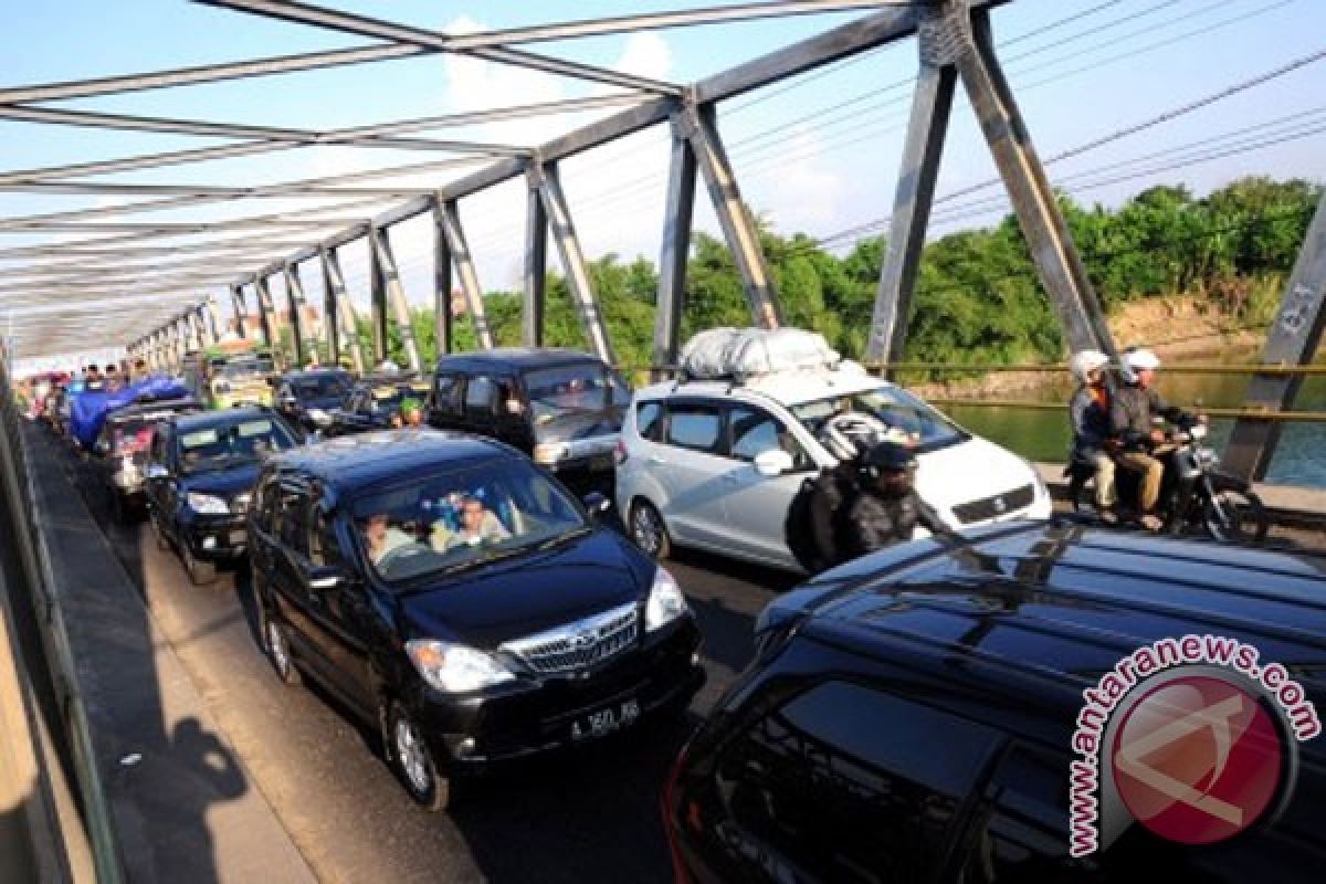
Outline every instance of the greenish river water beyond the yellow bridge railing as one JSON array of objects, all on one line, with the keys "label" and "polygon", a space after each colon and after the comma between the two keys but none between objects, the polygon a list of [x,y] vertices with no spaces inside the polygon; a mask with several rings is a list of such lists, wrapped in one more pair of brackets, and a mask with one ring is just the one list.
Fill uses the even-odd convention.
[{"label": "greenish river water beyond the yellow bridge railing", "polygon": [[[1184,357],[1184,360],[1193,364],[1232,364],[1256,362],[1256,351],[1240,349],[1205,358]],[[1248,379],[1248,375],[1167,374],[1162,368],[1156,387],[1162,396],[1176,406],[1189,407],[1200,400],[1212,408],[1238,408],[1244,402]],[[1071,392],[1071,382],[1065,376],[1038,390],[998,398],[1066,403]],[[1303,382],[1294,411],[1326,412],[1326,376],[1317,375]],[[1030,460],[1063,461],[1067,456],[1071,433],[1066,406],[1063,411],[947,406],[944,412],[972,432]],[[1233,420],[1211,421],[1211,437],[1217,451],[1224,449],[1232,427]],[[1285,424],[1266,481],[1326,488],[1326,423]]]}]

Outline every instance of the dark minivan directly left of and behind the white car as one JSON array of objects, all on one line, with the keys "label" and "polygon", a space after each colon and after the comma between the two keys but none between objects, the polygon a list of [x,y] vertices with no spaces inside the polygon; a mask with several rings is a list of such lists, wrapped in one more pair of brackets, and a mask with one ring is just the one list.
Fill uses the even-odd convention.
[{"label": "dark minivan directly left of and behind the white car", "polygon": [[579,492],[611,497],[614,451],[631,386],[586,353],[497,349],[443,357],[428,423],[518,448]]}]

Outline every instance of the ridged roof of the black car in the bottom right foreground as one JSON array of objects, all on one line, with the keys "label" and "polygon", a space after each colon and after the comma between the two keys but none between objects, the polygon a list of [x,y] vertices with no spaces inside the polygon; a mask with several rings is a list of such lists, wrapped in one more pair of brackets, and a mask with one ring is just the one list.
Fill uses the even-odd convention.
[{"label": "ridged roof of the black car in the bottom right foreground", "polygon": [[[858,559],[774,606],[806,612],[813,637],[937,673],[987,708],[997,694],[1049,706],[1065,730],[1115,663],[1189,634],[1256,647],[1326,702],[1326,557],[1307,551],[1002,525]],[[1326,741],[1302,749],[1326,762]]]}]

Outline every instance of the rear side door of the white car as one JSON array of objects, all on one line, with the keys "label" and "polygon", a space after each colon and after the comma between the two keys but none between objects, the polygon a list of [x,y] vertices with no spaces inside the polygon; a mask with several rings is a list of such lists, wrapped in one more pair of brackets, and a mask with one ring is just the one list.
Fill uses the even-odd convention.
[{"label": "rear side door of the white car", "polygon": [[675,539],[723,549],[727,512],[723,498],[732,461],[725,453],[721,402],[675,399],[668,403],[660,443],[648,455],[650,469],[667,501],[664,517]]}]

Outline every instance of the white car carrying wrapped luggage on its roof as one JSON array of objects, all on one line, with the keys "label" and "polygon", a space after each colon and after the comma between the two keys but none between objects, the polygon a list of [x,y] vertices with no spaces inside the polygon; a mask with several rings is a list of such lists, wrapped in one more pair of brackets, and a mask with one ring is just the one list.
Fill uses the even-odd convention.
[{"label": "white car carrying wrapped luggage on its roof", "polygon": [[837,461],[815,437],[842,411],[919,436],[916,490],[963,529],[1048,518],[1030,463],[863,371],[788,371],[745,383],[660,383],[635,392],[617,449],[617,505],[647,553],[690,546],[801,570],[784,524],[801,484]]}]

